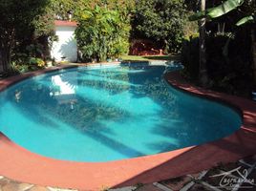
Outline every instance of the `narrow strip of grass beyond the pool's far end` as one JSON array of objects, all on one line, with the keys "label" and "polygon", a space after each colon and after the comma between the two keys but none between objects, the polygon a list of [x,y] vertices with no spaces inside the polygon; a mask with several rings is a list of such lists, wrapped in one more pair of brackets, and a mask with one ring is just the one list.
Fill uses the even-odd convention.
[{"label": "narrow strip of grass beyond the pool's far end", "polygon": [[123,60],[138,60],[138,61],[148,61],[148,60],[180,60],[179,54],[171,55],[121,55],[120,58]]}]

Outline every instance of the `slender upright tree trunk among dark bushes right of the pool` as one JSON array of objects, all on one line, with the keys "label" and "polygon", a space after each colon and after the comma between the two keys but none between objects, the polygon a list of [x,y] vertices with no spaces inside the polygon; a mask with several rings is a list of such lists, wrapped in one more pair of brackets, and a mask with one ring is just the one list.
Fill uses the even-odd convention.
[{"label": "slender upright tree trunk among dark bushes right of the pool", "polygon": [[[201,11],[205,11],[205,0],[201,0]],[[199,22],[200,27],[200,64],[199,64],[199,79],[203,87],[208,83],[208,75],[206,70],[206,47],[205,47],[205,23],[203,18]]]}]

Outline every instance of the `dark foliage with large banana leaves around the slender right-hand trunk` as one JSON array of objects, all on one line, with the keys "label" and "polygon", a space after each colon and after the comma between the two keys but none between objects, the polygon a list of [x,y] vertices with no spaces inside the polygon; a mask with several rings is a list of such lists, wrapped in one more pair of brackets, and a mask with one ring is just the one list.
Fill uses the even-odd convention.
[{"label": "dark foliage with large banana leaves around the slender right-hand trunk", "polygon": [[[205,18],[208,21],[207,35],[204,39],[206,42],[205,69],[210,77],[208,85],[229,94],[249,96],[253,89],[253,76],[254,85],[256,85],[255,24],[253,24],[256,2],[225,0],[215,3],[211,1],[208,7],[205,11],[199,11],[190,17],[190,20]],[[217,30],[216,27],[218,27]],[[182,51],[182,59],[186,65],[185,74],[196,80],[198,76],[194,74],[199,73],[200,57],[194,50],[198,50],[196,48],[198,42],[197,38],[186,41]]]}]

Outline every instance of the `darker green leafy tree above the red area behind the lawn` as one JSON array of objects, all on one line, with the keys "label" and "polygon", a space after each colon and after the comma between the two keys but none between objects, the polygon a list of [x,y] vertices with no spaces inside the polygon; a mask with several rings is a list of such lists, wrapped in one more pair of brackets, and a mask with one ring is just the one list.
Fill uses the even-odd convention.
[{"label": "darker green leafy tree above the red area behind the lawn", "polygon": [[166,52],[178,52],[183,37],[185,13],[182,0],[137,1],[133,37],[148,38],[160,43]]}]

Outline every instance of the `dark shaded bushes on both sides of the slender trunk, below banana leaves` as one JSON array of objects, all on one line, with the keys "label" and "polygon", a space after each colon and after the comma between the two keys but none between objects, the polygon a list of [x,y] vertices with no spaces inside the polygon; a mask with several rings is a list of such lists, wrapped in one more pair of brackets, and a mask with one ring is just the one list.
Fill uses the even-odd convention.
[{"label": "dark shaded bushes on both sides of the slender trunk, below banana leaves", "polygon": [[[209,87],[233,95],[250,96],[252,86],[250,39],[245,31],[237,32],[229,39],[229,33],[217,33],[206,37],[206,67]],[[228,52],[224,52],[229,39]],[[190,37],[183,41],[181,61],[184,74],[190,80],[199,79],[199,39]]]}]

